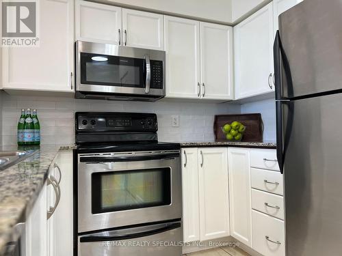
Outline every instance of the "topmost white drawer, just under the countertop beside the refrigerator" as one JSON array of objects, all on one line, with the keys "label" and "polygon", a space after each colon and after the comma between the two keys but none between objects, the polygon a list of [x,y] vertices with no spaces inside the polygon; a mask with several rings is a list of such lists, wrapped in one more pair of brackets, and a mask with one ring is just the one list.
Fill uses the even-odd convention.
[{"label": "topmost white drawer, just under the countertop beside the refrigerator", "polygon": [[250,166],[279,171],[276,150],[251,150]]}]

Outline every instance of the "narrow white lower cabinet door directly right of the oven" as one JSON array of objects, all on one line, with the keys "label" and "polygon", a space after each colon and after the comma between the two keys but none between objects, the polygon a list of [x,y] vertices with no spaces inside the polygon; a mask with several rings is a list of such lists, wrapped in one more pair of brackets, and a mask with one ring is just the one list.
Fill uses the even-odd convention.
[{"label": "narrow white lower cabinet door directly right of the oven", "polygon": [[183,238],[184,242],[200,240],[200,208],[198,202],[197,148],[182,150]]}]

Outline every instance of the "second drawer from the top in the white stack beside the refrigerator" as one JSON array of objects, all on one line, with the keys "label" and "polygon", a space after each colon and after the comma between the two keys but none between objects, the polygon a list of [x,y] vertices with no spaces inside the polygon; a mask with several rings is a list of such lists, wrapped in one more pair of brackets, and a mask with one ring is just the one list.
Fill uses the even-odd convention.
[{"label": "second drawer from the top in the white stack beside the refrigerator", "polygon": [[252,188],[278,195],[283,194],[282,174],[278,171],[251,168],[250,183],[252,184]]}]

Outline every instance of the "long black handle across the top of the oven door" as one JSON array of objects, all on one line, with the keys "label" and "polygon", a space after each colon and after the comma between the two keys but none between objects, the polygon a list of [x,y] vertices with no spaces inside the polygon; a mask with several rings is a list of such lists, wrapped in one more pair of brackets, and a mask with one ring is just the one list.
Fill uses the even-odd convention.
[{"label": "long black handle across the top of the oven door", "polygon": [[137,162],[146,160],[168,160],[179,157],[179,153],[157,154],[150,156],[86,156],[79,158],[80,162]]}]

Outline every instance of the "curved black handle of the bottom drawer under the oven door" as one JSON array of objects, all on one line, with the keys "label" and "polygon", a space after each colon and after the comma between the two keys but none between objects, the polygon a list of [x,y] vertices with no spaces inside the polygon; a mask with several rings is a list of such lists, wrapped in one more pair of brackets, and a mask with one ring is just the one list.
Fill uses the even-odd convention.
[{"label": "curved black handle of the bottom drawer under the oven door", "polygon": [[[180,222],[176,223],[164,223],[161,225],[153,225],[153,229],[146,228],[146,230],[142,231],[134,231],[133,229],[127,230],[114,230],[114,231],[103,231],[99,233],[93,233],[91,235],[81,236],[79,242],[107,242],[107,241],[118,241],[118,240],[129,240],[134,238],[143,238],[145,236],[152,236],[157,233],[163,233],[172,229],[178,229],[181,227]],[[141,229],[141,227],[137,227],[135,229]]]}]

